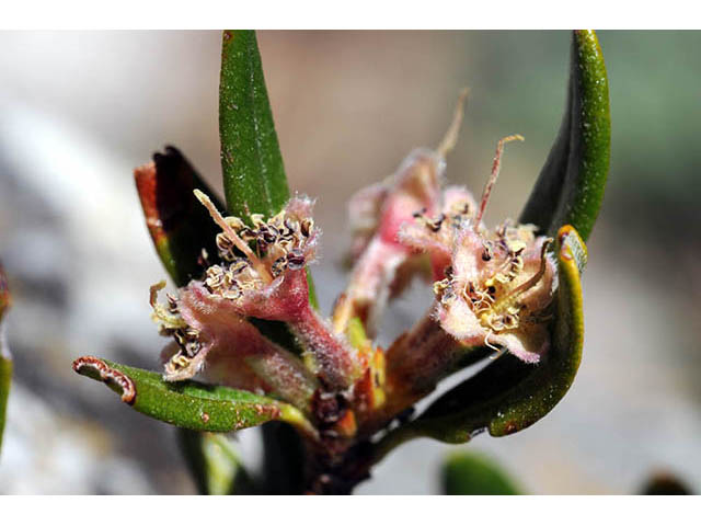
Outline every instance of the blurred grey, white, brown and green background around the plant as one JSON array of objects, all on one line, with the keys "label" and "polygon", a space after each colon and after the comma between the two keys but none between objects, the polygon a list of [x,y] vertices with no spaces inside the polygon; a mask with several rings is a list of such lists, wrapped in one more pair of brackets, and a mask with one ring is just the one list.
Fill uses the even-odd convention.
[{"label": "blurred grey, white, brown and green background around the plant", "polygon": [[[701,33],[600,32],[612,160],[584,277],[577,379],[544,420],[464,446],[415,441],[359,493],[436,493],[456,448],[484,451],[531,493],[634,493],[658,470],[701,491]],[[319,197],[313,267],[329,312],[346,276],[345,202],[436,146],[471,96],[448,178],[481,192],[509,145],[487,224],[517,217],[563,113],[566,32],[261,32],[290,186]],[[165,276],[133,182],[165,144],[221,188],[217,32],[0,33],[0,260],[15,359],[0,493],[191,493],[174,430],[128,410],[71,361],[158,368],[149,285]],[[417,319],[415,286],[383,342]],[[241,433],[255,462],[257,430]]]}]

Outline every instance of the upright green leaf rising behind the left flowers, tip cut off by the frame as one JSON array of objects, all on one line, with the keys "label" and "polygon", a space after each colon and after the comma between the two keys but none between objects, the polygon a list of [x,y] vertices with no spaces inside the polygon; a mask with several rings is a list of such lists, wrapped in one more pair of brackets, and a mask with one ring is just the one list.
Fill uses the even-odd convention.
[{"label": "upright green leaf rising behind the left flowers, tip cut off by the frame", "polygon": [[289,188],[254,31],[225,31],[219,83],[221,169],[229,210],[277,214]]}]

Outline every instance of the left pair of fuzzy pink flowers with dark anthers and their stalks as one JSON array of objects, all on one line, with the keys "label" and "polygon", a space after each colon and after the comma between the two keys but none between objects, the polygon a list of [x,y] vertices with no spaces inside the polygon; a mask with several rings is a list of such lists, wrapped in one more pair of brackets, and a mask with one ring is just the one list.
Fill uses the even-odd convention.
[{"label": "left pair of fuzzy pink flowers with dark anthers and their stalks", "polygon": [[[168,306],[156,301],[162,285],[151,288],[154,318],[177,345],[166,353],[165,378],[191,378],[207,364],[210,377],[277,392],[298,407],[315,389],[313,374],[332,391],[348,389],[365,370],[364,359],[309,304],[307,265],[319,238],[312,202],[295,197],[267,220],[252,215],[253,226],[248,226],[223,217],[203,192],[195,190],[195,195],[222,230],[216,239],[221,263],[208,266],[202,281],[192,281],[176,297],[169,296]],[[288,323],[312,370],[265,339],[248,318]]]}]

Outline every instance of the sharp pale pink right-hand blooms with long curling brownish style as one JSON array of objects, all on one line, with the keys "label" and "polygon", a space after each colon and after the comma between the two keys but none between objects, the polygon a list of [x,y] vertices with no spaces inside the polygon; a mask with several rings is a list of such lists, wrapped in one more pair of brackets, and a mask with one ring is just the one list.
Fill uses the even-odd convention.
[{"label": "sharp pale pink right-hand blooms with long curling brownish style", "polygon": [[[464,190],[448,188],[444,209],[433,219],[420,215],[400,232],[403,243],[432,255],[443,330],[462,345],[508,350],[524,362],[548,351],[548,308],[555,265],[547,253],[550,238],[536,237],[531,225],[505,221],[489,230],[482,216],[499,171],[502,139],[480,207]],[[499,348],[501,347],[501,348]]]}]

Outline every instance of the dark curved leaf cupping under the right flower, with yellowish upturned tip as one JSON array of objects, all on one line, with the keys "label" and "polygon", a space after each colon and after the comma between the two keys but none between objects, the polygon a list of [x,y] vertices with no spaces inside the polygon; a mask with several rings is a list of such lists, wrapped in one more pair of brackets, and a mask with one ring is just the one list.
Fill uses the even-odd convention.
[{"label": "dark curved leaf cupping under the right flower, with yellowish upturned tip", "polygon": [[565,396],[582,361],[584,315],[581,272],[586,247],[570,226],[558,235],[560,286],[551,325],[552,345],[538,365],[506,354],[438,398],[415,421],[390,432],[378,459],[418,436],[459,444],[486,430],[504,436],[535,424]]}]

